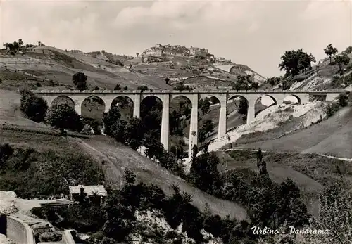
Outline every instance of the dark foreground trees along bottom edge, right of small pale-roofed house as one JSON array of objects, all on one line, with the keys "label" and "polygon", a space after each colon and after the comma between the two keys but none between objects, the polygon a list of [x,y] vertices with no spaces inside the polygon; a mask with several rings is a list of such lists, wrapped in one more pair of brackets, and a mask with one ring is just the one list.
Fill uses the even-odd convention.
[{"label": "dark foreground trees along bottom edge, right of small pale-roofed house", "polygon": [[[136,184],[135,179],[135,174],[126,169],[122,188],[107,188],[108,195],[103,203],[98,200],[88,202],[85,200],[86,193],[82,191],[79,204],[70,207],[34,207],[32,213],[42,219],[49,219],[61,228],[93,233],[87,241],[94,244],[130,243],[133,233],[153,243],[182,243],[182,237],[176,231],[180,224],[182,231],[196,243],[206,241],[201,234],[202,229],[215,238],[221,238],[224,243],[234,244],[239,243],[239,240],[247,244],[256,243],[258,236],[253,234],[248,222],[230,217],[222,219],[210,210],[201,212],[191,205],[192,196],[180,191],[175,184],[170,186],[172,195],[167,197],[158,186]],[[143,226],[137,221],[135,213],[146,210],[153,210],[158,217],[164,217],[173,230],[164,232],[155,226]]]}]

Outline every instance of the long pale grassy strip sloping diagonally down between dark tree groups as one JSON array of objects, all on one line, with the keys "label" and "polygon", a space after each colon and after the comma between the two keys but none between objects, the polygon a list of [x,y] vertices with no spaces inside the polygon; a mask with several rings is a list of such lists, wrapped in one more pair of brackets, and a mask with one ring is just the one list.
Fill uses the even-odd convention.
[{"label": "long pale grassy strip sloping diagonally down between dark tree groups", "polygon": [[137,179],[147,184],[156,184],[163,191],[170,195],[172,193],[170,185],[178,184],[181,191],[193,195],[193,204],[199,209],[203,209],[208,203],[211,212],[225,217],[236,219],[247,219],[246,210],[236,203],[227,200],[215,198],[190,186],[186,181],[174,174],[171,174],[165,168],[157,165],[156,162],[143,157],[136,151],[126,146],[115,143],[112,139],[104,136],[96,136],[94,139],[73,139],[81,146],[82,150],[99,162],[104,161],[102,167],[106,174],[106,179],[115,186],[122,183],[122,174],[125,168],[132,169],[137,174]]}]

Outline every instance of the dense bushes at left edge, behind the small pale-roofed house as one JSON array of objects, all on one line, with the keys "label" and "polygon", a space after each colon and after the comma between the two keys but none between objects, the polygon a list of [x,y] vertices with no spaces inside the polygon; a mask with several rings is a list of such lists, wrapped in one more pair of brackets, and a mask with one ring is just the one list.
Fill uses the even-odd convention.
[{"label": "dense bushes at left edge, behind the small pale-roofed house", "polygon": [[68,195],[68,187],[77,183],[103,183],[103,172],[92,158],[79,150],[62,152],[0,144],[1,191],[15,191],[18,198],[59,198],[60,193]]}]

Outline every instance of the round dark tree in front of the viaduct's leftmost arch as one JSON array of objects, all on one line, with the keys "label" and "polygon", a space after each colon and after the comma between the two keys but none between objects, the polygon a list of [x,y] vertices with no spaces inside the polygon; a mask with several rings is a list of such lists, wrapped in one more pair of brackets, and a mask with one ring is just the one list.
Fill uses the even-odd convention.
[{"label": "round dark tree in front of the viaduct's leftmost arch", "polygon": [[65,129],[72,131],[82,131],[83,124],[80,115],[67,104],[53,105],[46,116],[46,122],[56,129],[60,129],[61,134]]}]

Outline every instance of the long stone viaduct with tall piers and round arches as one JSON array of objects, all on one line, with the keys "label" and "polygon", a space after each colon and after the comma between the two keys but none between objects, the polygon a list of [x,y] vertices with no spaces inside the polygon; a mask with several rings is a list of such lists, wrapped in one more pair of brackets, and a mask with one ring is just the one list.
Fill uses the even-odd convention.
[{"label": "long stone viaduct with tall piers and round arches", "polygon": [[214,96],[220,102],[220,120],[218,126],[218,138],[226,134],[226,110],[227,102],[230,99],[240,96],[245,98],[249,108],[247,112],[247,124],[251,123],[255,117],[254,105],[258,98],[263,95],[270,96],[275,104],[282,104],[284,98],[291,95],[298,99],[298,103],[304,104],[309,102],[310,96],[324,96],[325,101],[333,101],[344,90],[323,90],[323,91],[290,91],[290,90],[274,90],[274,91],[111,91],[111,90],[96,90],[96,91],[78,91],[78,90],[42,90],[32,91],[39,96],[42,96],[48,103],[49,107],[53,104],[54,100],[59,97],[68,97],[75,104],[76,112],[81,115],[81,106],[85,99],[95,96],[101,98],[105,103],[105,112],[110,109],[113,100],[120,96],[125,96],[133,101],[134,109],[133,116],[140,117],[140,104],[142,100],[149,96],[156,96],[163,103],[163,115],[161,122],[161,143],[166,150],[169,148],[169,108],[170,101],[177,96],[188,98],[191,102],[191,124],[189,133],[189,155],[191,148],[197,143],[198,131],[198,102],[201,98]]}]

